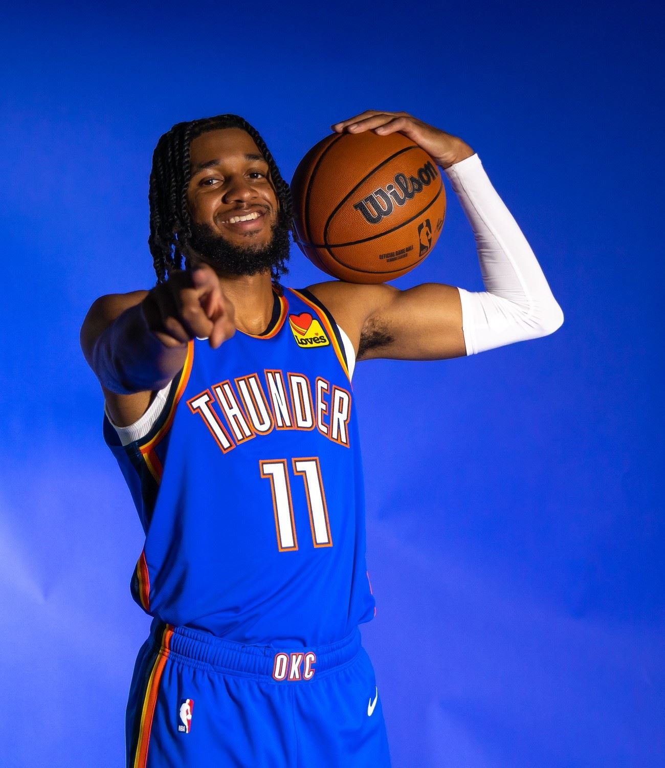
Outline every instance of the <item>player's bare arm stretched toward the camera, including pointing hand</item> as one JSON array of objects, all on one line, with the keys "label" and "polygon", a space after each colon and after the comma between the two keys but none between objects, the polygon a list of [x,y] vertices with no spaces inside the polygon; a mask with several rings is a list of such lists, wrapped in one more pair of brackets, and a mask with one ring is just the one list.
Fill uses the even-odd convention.
[{"label": "player's bare arm stretched toward the camera, including pointing hand", "polygon": [[217,348],[234,332],[233,305],[204,266],[174,273],[151,291],[101,296],[84,319],[81,348],[112,419],[124,426],[182,368],[190,339],[208,338]]}]

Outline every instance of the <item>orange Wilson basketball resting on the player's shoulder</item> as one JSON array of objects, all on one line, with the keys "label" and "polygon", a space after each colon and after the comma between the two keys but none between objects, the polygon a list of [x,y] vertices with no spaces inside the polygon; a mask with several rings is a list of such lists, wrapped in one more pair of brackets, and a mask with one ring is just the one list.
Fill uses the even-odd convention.
[{"label": "orange Wilson basketball resting on the player's shoulder", "polygon": [[441,172],[404,134],[333,134],[291,182],[298,245],[324,272],[385,283],[417,266],[443,227]]}]

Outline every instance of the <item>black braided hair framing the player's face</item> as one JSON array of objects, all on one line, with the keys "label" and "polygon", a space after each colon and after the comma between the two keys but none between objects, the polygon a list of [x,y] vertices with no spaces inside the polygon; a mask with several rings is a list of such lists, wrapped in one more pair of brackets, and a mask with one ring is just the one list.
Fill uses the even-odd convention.
[{"label": "black braided hair framing the player's face", "polygon": [[[157,283],[164,283],[173,270],[183,268],[183,260],[187,258],[189,250],[191,221],[187,209],[187,187],[190,183],[190,145],[200,134],[220,128],[241,128],[253,138],[270,169],[270,180],[280,203],[278,222],[294,233],[289,185],[283,180],[266,142],[256,128],[237,114],[218,114],[213,118],[177,123],[157,141],[152,158],[148,192],[150,237],[147,243],[152,253]],[[273,284],[279,293],[283,293],[280,275],[289,272],[286,258],[280,258],[270,270]]]}]

